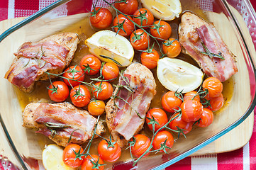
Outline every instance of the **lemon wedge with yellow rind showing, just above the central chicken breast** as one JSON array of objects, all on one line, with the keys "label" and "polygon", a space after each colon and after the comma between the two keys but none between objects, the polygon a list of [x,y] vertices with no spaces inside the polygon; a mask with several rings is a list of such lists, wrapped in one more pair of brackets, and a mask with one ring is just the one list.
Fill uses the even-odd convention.
[{"label": "lemon wedge with yellow rind showing, just above the central chicken breast", "polygon": [[111,30],[94,33],[91,38],[85,40],[85,44],[89,47],[89,52],[99,57],[101,61],[114,62],[121,67],[126,67],[133,60],[133,46],[122,35]]}]

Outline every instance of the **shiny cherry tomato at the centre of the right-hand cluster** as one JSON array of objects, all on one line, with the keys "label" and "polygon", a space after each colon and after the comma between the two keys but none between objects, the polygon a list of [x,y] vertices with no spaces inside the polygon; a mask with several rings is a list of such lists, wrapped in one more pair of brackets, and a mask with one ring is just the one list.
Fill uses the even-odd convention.
[{"label": "shiny cherry tomato at the centre of the right-hand cluster", "polygon": [[182,109],[182,120],[185,122],[193,122],[199,120],[203,113],[203,106],[199,101],[187,100],[180,106]]}]

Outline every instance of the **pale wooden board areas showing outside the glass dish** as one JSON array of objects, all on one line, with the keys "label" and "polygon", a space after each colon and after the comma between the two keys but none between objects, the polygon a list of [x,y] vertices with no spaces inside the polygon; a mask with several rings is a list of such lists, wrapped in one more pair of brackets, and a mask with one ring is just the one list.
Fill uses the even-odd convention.
[{"label": "pale wooden board areas showing outside the glass dish", "polygon": [[[238,15],[239,15],[239,13],[238,13]],[[221,20],[222,18],[226,18],[226,17],[221,16],[221,14],[211,15],[211,17],[213,20]],[[0,22],[0,34],[3,33],[4,30],[10,28],[14,24],[16,24],[22,20],[23,20],[23,18],[13,18],[10,20],[1,21]],[[243,18],[242,18],[242,20],[243,20]],[[225,22],[220,22],[220,23],[225,23]],[[45,24],[45,26],[47,26],[47,24]],[[216,26],[216,27],[221,28],[221,26]],[[254,52],[253,56],[256,56],[254,46],[252,44],[252,40],[250,40],[250,34],[249,34],[246,26],[242,26],[242,29],[243,29],[243,32],[247,35],[246,38],[250,44],[250,51]],[[27,31],[29,31],[29,30],[27,30]],[[48,32],[46,30],[45,32],[43,32],[42,37],[44,37],[47,34],[48,34]],[[23,36],[23,35],[21,35],[21,36]],[[33,36],[33,35],[31,35],[31,36]],[[227,44],[229,44],[230,42],[232,43],[232,41],[233,41],[232,38],[224,38],[224,39],[229,41],[229,42],[226,42]],[[252,135],[253,120],[254,120],[254,115],[251,114],[247,118],[247,120],[245,120],[237,128],[235,128],[234,130],[231,130],[230,132],[228,132],[228,134],[223,135],[223,137],[219,138],[215,142],[212,142],[210,145],[207,145],[206,147],[204,147],[203,149],[194,153],[193,155],[216,154],[216,153],[220,153],[220,152],[232,151],[234,149],[243,147],[250,140],[250,137]],[[3,130],[0,130],[0,137],[1,137],[1,139],[3,139],[0,142],[0,154],[6,155],[7,157],[9,157],[9,159],[11,159],[11,161],[13,161],[13,163],[16,164],[17,163],[16,159],[13,156],[13,153],[12,153],[10,147],[8,146],[8,142],[6,141],[6,137],[4,135]]]}]

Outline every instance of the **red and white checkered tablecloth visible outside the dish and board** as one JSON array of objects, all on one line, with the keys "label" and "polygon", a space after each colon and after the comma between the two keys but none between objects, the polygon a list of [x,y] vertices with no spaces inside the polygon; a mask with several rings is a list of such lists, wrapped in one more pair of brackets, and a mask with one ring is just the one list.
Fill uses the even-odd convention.
[{"label": "red and white checkered tablecloth visible outside the dish and board", "polygon": [[[30,16],[36,11],[44,8],[57,0],[0,0],[0,21],[9,18]],[[90,0],[81,0],[82,3],[91,3]],[[96,1],[96,0],[94,0]],[[112,0],[113,1],[113,0]],[[198,0],[200,1],[200,0]],[[211,11],[213,0],[206,4],[208,11]],[[241,0],[238,0],[241,1]],[[251,0],[252,6],[256,8],[256,0]],[[255,116],[256,123],[256,116]],[[256,125],[252,132],[250,142],[245,147],[223,154],[211,156],[187,157],[167,167],[166,169],[182,170],[216,170],[216,169],[256,169]],[[1,169],[1,167],[0,167]]]}]

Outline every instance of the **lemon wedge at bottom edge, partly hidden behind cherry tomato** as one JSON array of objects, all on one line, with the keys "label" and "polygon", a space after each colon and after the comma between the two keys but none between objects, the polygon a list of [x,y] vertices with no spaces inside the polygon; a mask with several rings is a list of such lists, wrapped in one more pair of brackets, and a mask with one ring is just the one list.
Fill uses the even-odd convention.
[{"label": "lemon wedge at bottom edge, partly hidden behind cherry tomato", "polygon": [[74,170],[65,165],[62,160],[63,149],[58,145],[48,145],[43,149],[43,166],[46,170]]}]

